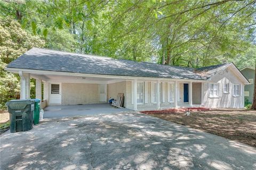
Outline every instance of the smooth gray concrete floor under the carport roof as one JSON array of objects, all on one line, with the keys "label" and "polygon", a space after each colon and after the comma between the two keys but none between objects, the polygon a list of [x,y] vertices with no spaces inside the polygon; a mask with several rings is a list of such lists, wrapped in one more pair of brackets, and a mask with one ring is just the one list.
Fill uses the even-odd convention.
[{"label": "smooth gray concrete floor under the carport roof", "polygon": [[109,113],[131,111],[130,109],[127,109],[127,108],[113,107],[107,103],[86,104],[86,105],[67,105],[67,106],[48,106],[43,110],[44,110],[43,118],[98,115],[98,114],[109,114]]}]

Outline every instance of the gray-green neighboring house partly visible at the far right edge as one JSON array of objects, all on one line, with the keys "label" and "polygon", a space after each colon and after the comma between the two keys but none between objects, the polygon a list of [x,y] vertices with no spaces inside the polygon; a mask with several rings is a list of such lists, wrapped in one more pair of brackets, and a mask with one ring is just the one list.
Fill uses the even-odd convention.
[{"label": "gray-green neighboring house partly visible at the far right edge", "polygon": [[249,80],[251,84],[247,84],[244,87],[244,99],[245,101],[248,100],[250,103],[252,103],[253,99],[253,89],[254,89],[254,78],[255,78],[255,70],[249,67],[245,67],[241,70],[241,72],[244,74],[244,77]]}]

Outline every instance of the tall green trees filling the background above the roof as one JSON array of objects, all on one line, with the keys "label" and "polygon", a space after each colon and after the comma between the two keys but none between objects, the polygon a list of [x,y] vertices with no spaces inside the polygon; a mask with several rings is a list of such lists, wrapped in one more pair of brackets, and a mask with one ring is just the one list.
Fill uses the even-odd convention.
[{"label": "tall green trees filling the background above the roof", "polygon": [[233,61],[241,69],[256,58],[253,0],[30,0],[0,8],[6,64],[34,46],[189,67]]}]

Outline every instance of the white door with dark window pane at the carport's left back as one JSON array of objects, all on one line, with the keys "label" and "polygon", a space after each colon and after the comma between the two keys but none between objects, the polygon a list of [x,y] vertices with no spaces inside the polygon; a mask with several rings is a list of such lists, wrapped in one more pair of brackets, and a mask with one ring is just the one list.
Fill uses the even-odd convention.
[{"label": "white door with dark window pane at the carport's left back", "polygon": [[51,83],[49,104],[61,104],[61,84]]}]

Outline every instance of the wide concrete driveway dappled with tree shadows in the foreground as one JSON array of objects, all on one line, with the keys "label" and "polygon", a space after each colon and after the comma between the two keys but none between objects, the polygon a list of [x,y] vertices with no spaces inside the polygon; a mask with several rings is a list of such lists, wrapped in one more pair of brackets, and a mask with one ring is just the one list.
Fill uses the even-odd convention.
[{"label": "wide concrete driveway dappled with tree shadows in the foreground", "polygon": [[256,149],[135,112],[1,135],[1,169],[256,169]]}]

